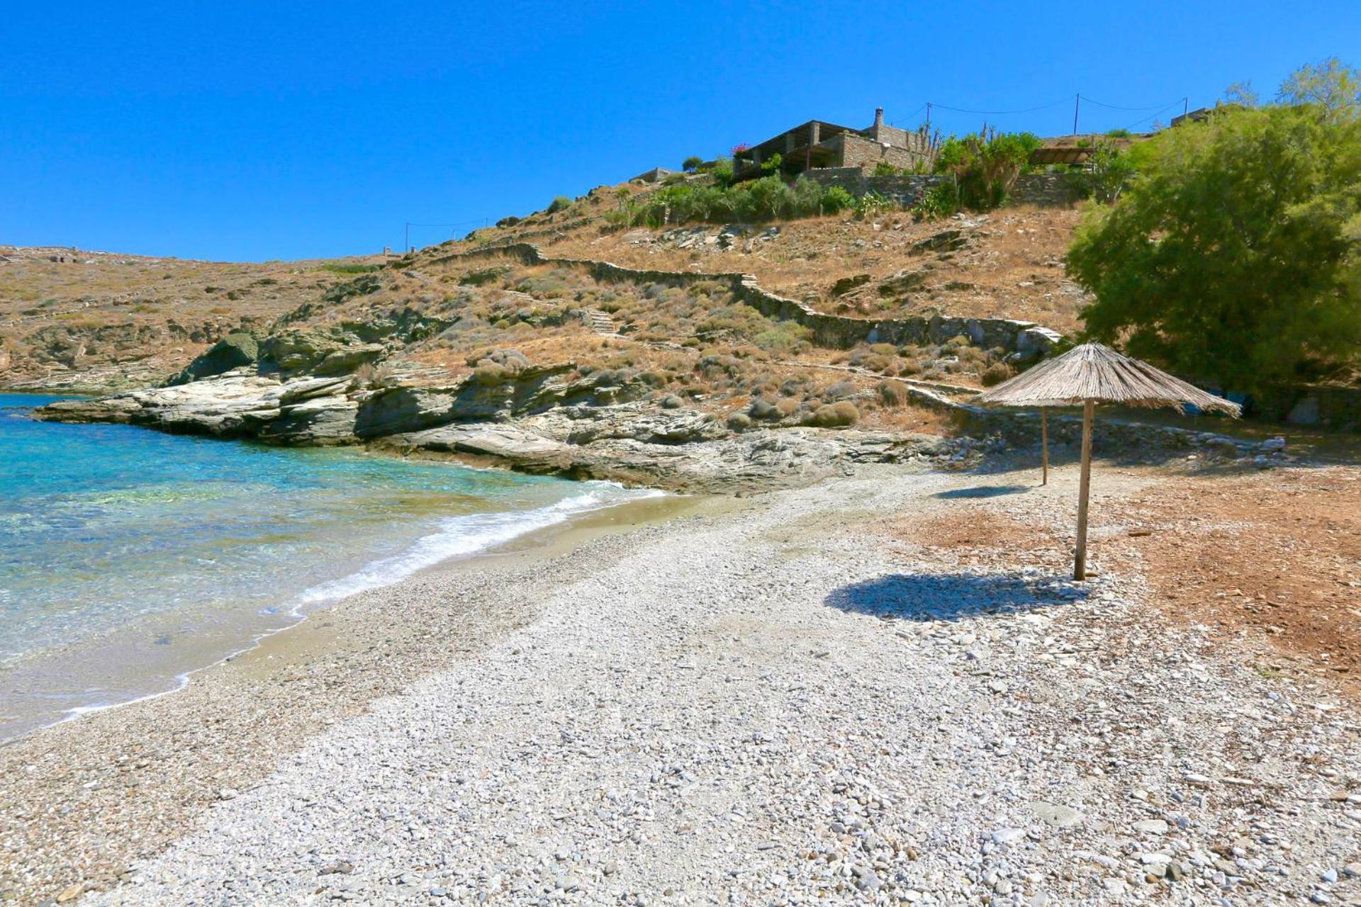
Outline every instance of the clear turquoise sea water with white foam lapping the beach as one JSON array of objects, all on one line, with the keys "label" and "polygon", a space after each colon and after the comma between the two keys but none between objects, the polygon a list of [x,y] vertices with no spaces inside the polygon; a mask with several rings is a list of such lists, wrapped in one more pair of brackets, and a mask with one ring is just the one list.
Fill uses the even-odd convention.
[{"label": "clear turquoise sea water with white foam lapping the beach", "polygon": [[309,606],[645,492],[26,417],[0,394],[0,740],[173,689]]}]

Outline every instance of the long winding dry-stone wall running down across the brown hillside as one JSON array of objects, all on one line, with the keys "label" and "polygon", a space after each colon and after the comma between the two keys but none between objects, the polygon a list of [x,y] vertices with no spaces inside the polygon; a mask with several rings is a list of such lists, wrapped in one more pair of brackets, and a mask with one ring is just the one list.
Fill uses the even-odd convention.
[{"label": "long winding dry-stone wall running down across the brown hillside", "polygon": [[695,273],[690,271],[644,271],[625,268],[610,261],[591,258],[555,258],[544,256],[539,246],[529,242],[513,242],[504,246],[455,253],[437,261],[472,258],[486,256],[506,256],[527,265],[555,265],[584,268],[602,283],[657,283],[664,287],[690,287],[704,281],[725,283],[732,294],[768,318],[795,321],[810,330],[815,343],[822,347],[849,348],[862,343],[945,343],[951,337],[965,336],[974,345],[985,349],[1002,347],[1007,352],[1023,355],[1043,354],[1060,335],[1041,328],[1030,321],[1010,318],[958,318],[931,315],[917,318],[885,318],[870,321],[817,311],[807,303],[788,296],[780,296],[762,288],[755,276],[746,273]]}]

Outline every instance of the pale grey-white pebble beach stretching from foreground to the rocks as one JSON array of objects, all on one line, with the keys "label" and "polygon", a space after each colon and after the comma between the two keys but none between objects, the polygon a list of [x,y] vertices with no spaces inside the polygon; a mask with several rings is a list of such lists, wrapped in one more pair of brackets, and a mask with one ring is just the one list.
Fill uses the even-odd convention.
[{"label": "pale grey-white pebble beach stretching from foreground to the rocks", "polygon": [[[1077,469],[902,468],[449,563],[0,748],[0,888],[80,904],[1361,899],[1361,728],[1067,578]],[[1155,485],[1111,470],[1102,502]],[[961,510],[966,509],[966,510]],[[964,514],[961,517],[961,514]],[[960,548],[979,514],[1049,547]],[[932,522],[934,521],[934,522]]]}]

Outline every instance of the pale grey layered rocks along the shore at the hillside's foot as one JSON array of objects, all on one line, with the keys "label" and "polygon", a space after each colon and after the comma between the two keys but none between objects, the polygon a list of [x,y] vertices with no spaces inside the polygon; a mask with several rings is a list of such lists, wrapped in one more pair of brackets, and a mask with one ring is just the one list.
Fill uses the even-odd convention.
[{"label": "pale grey layered rocks along the shore at the hillside's foot", "polygon": [[185,385],[65,400],[35,416],[279,445],[370,442],[685,490],[810,484],[856,462],[949,457],[957,449],[932,435],[734,432],[709,413],[642,398],[651,390],[645,383],[603,386],[574,374],[563,363],[475,374],[450,386],[374,389],[350,375],[280,379],[240,369]]}]

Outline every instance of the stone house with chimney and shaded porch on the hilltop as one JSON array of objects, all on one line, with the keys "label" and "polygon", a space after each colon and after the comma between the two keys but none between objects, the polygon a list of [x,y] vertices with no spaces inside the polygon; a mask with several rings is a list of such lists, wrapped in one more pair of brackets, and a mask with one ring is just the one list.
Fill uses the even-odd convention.
[{"label": "stone house with chimney and shaded porch on the hilltop", "polygon": [[761,165],[772,160],[774,155],[780,155],[780,173],[785,178],[830,167],[868,171],[881,162],[912,169],[924,160],[921,143],[919,133],[885,124],[883,107],[874,112],[874,124],[864,129],[810,120],[738,152],[734,177],[736,179],[759,177]]}]

